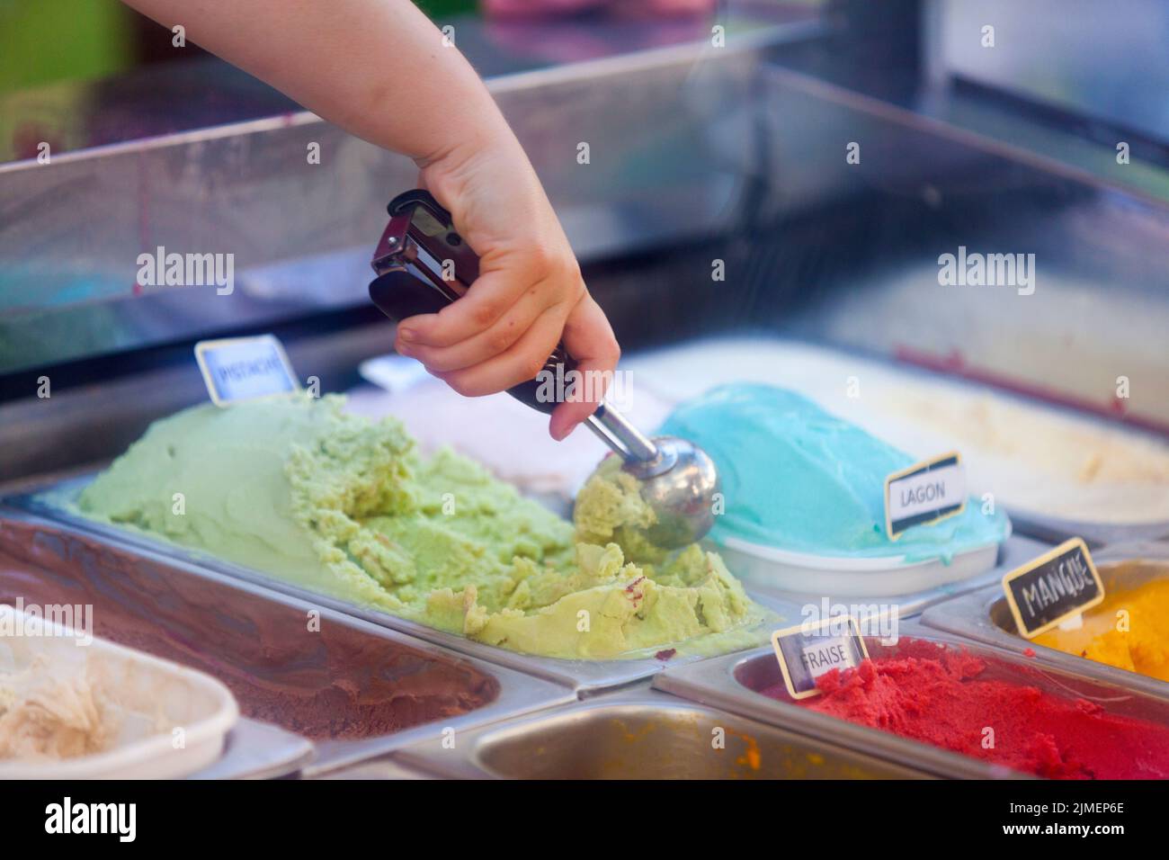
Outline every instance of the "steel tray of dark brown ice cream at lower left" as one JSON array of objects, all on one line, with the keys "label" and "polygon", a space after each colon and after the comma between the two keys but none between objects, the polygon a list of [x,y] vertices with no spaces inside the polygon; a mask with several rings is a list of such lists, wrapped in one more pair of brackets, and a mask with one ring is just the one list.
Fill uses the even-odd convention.
[{"label": "steel tray of dark brown ice cream at lower left", "polygon": [[307,775],[574,699],[319,601],[0,511],[0,601],[18,598],[92,606],[96,635],[219,677],[244,716],[314,742]]}]

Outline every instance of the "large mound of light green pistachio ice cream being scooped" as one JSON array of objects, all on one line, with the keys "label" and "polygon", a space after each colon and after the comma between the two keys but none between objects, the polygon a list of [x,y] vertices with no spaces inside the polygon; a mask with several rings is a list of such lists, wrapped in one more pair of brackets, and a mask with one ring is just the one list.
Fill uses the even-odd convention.
[{"label": "large mound of light green pistachio ice cream being scooped", "polygon": [[713,653],[766,639],[767,613],[718,555],[635,539],[630,527],[646,512],[613,491],[615,474],[581,491],[577,534],[478,463],[450,450],[424,459],[396,420],[371,422],[344,403],[298,395],[185,410],[153,424],[78,507],[532,654]]}]

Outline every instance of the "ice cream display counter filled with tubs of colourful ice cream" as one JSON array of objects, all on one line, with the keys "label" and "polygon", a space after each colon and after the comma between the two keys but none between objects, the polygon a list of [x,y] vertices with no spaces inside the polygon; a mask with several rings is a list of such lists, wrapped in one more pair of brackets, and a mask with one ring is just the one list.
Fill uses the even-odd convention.
[{"label": "ice cream display counter filled with tubs of colourful ice cream", "polygon": [[[1169,779],[1169,135],[869,6],[452,25],[621,343],[602,408],[717,472],[673,543],[620,443],[394,351],[371,253],[451,262],[386,227],[410,158],[210,56],[138,131],[94,118],[140,77],[0,90],[65,150],[0,142],[0,778]],[[143,276],[180,250],[233,274]],[[261,339],[289,390],[224,397]]]}]

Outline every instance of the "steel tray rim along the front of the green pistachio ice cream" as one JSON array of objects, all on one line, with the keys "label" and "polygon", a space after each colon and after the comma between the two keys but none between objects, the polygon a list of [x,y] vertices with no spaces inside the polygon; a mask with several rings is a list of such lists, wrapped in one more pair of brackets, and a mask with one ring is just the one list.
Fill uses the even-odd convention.
[{"label": "steel tray rim along the front of the green pistachio ice cream", "polygon": [[[656,658],[629,659],[629,660],[561,660],[556,658],[534,656],[499,648],[483,642],[476,642],[464,637],[455,635],[443,631],[428,627],[415,621],[409,621],[387,612],[375,608],[359,606],[340,598],[330,597],[320,592],[310,591],[300,586],[279,580],[261,571],[244,567],[229,562],[223,562],[205,552],[188,550],[178,544],[155,539],[148,535],[136,532],[129,529],[120,529],[105,525],[99,522],[87,520],[72,511],[61,508],[58,504],[44,501],[43,493],[51,489],[54,498],[71,498],[81,491],[82,487],[90,481],[90,476],[71,479],[51,488],[41,488],[35,493],[11,496],[0,500],[0,504],[8,505],[13,511],[21,511],[27,517],[33,517],[42,523],[44,528],[51,528],[62,536],[90,536],[98,538],[103,544],[116,548],[123,552],[133,553],[141,558],[165,560],[175,566],[188,570],[201,570],[214,572],[228,579],[241,580],[264,590],[277,591],[282,594],[311,603],[314,606],[323,606],[347,615],[369,621],[380,627],[407,633],[419,639],[424,639],[436,645],[457,651],[471,656],[487,660],[490,662],[507,666],[521,672],[537,675],[539,677],[566,684],[580,694],[593,694],[599,690],[622,687],[624,684],[649,677],[660,672],[670,663],[685,663],[700,660],[696,655],[673,655],[666,660]],[[760,626],[760,641],[767,641],[770,631],[786,622],[794,622],[798,618],[796,608],[784,604],[781,598],[768,600],[766,608],[779,615],[777,619],[765,621]]]}]

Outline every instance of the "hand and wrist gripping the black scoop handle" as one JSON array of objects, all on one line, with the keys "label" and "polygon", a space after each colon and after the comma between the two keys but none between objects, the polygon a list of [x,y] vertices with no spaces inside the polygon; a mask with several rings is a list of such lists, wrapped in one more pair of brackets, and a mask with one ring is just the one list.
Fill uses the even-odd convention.
[{"label": "hand and wrist gripping the black scoop handle", "polygon": [[422,187],[478,254],[479,277],[438,314],[401,321],[397,351],[480,397],[534,378],[563,340],[582,374],[603,374],[556,406],[548,431],[563,439],[596,408],[621,350],[535,171],[506,125],[487,143],[468,140],[421,166]]}]

